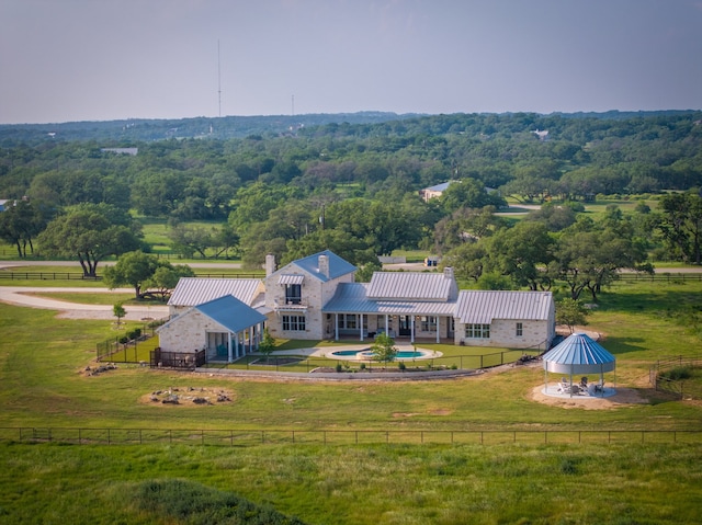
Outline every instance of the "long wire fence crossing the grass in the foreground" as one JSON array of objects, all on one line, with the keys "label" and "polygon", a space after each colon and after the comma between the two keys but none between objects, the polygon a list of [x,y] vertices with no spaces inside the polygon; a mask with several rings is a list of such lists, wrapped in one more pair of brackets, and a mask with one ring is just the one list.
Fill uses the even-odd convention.
[{"label": "long wire fence crossing the grass in the foreground", "polygon": [[72,445],[181,444],[256,446],[274,444],[702,444],[702,431],[683,430],[186,430],[0,427],[0,442]]}]

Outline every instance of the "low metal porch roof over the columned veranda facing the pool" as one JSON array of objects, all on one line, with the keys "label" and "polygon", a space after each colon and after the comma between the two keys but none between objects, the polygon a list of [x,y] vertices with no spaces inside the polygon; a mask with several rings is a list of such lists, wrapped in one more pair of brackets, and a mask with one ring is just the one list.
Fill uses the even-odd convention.
[{"label": "low metal porch roof over the columned veranda facing the pool", "polygon": [[377,300],[367,296],[365,283],[341,283],[321,311],[401,316],[453,316],[455,300]]}]

